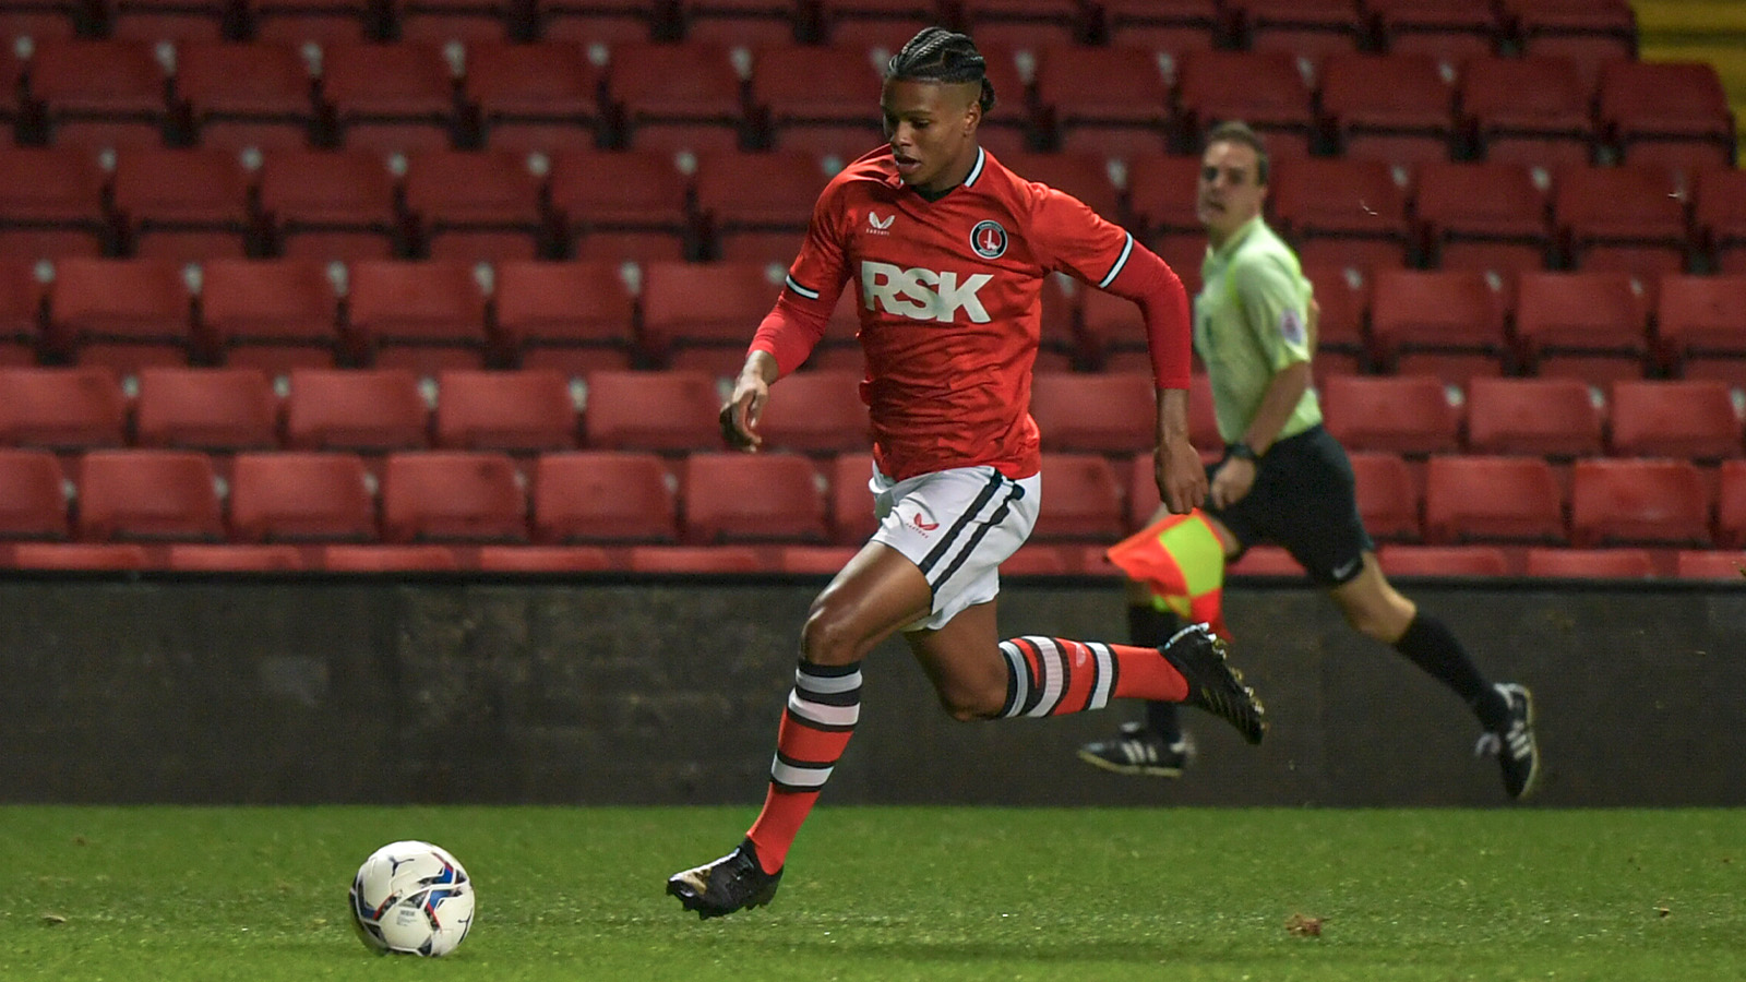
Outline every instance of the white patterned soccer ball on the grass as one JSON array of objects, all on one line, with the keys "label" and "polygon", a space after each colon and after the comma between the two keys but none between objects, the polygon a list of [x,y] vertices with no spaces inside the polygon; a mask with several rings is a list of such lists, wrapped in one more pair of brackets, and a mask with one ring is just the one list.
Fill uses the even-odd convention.
[{"label": "white patterned soccer ball on the grass", "polygon": [[377,952],[449,954],[473,926],[473,881],[430,842],[389,842],[351,881],[351,923]]}]

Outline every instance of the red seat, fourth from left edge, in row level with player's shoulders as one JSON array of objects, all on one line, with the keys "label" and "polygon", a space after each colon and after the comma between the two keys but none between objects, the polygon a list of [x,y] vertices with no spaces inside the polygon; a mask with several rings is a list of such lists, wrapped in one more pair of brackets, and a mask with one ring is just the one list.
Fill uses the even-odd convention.
[{"label": "red seat, fourth from left edge, in row level with player's shoulders", "polygon": [[407,159],[405,206],[438,259],[534,259],[550,252],[543,178],[527,154],[421,150]]}]

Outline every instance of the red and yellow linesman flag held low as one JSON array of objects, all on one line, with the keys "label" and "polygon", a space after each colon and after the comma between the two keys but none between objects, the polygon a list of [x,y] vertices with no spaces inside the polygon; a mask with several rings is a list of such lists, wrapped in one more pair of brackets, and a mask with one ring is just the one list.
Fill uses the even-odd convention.
[{"label": "red and yellow linesman flag held low", "polygon": [[1145,584],[1159,610],[1189,624],[1212,624],[1220,638],[1231,638],[1224,626],[1224,545],[1200,508],[1165,515],[1105,556],[1128,578]]}]

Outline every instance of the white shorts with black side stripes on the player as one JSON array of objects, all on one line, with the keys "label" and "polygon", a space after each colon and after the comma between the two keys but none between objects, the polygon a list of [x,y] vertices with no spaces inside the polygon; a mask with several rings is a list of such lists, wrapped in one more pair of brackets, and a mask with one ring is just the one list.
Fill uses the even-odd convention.
[{"label": "white shorts with black side stripes on the player", "polygon": [[903,552],[934,591],[932,612],[904,627],[943,627],[1000,592],[1000,563],[1030,536],[1042,475],[1013,481],[992,467],[959,467],[892,481],[873,468],[873,542]]}]

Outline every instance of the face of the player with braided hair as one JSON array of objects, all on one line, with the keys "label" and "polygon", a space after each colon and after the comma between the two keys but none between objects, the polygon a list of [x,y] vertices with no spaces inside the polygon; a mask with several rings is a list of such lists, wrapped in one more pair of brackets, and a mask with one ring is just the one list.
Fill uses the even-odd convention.
[{"label": "face of the player with braided hair", "polygon": [[976,82],[889,79],[880,94],[897,176],[917,190],[948,190],[976,164],[981,107]]}]

